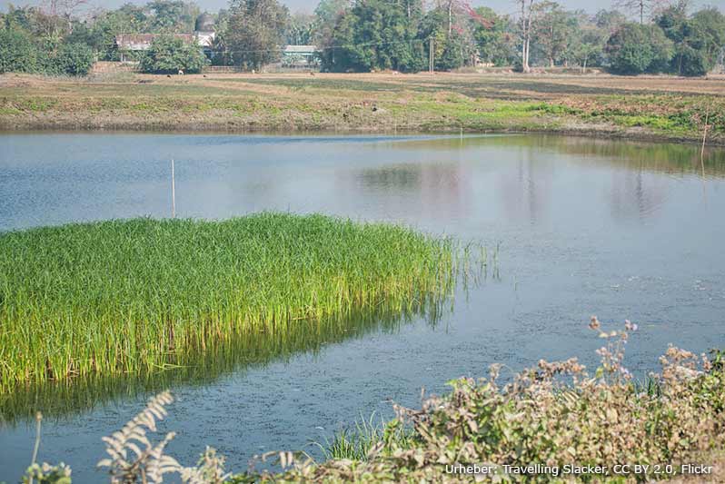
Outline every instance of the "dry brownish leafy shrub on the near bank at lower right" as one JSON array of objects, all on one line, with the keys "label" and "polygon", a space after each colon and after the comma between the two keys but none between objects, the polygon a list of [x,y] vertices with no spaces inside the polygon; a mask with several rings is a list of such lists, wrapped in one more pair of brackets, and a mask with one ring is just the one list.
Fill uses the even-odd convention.
[{"label": "dry brownish leafy shrub on the near bank at lower right", "polygon": [[[331,461],[311,472],[297,469],[282,480],[295,481],[468,481],[445,467],[462,464],[502,466],[606,466],[649,464],[649,474],[620,476],[648,480],[655,464],[708,463],[702,459],[725,444],[725,390],[720,353],[705,355],[670,347],[646,385],[624,368],[624,348],[637,326],[605,332],[592,317],[590,327],[606,341],[601,366],[589,375],[576,360],[539,361],[508,384],[500,367],[489,378],[452,381],[452,392],[424,402],[422,410],[396,408],[398,420],[412,423],[416,439],[395,442],[367,462]],[[500,467],[500,469],[502,469]],[[605,474],[569,476],[579,480],[615,479]],[[675,477],[659,475],[657,479]],[[279,481],[280,476],[266,476]],[[551,482],[551,474],[499,473],[478,479]],[[557,479],[564,480],[564,477]]]}]

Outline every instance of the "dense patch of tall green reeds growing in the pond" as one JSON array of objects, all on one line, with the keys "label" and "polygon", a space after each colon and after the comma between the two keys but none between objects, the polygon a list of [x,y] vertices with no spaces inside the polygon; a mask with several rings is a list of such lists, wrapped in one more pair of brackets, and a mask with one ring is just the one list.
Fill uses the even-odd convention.
[{"label": "dense patch of tall green reeds growing in the pond", "polygon": [[0,234],[0,392],[154,371],[245,333],[451,291],[452,242],[321,215],[96,222]]}]

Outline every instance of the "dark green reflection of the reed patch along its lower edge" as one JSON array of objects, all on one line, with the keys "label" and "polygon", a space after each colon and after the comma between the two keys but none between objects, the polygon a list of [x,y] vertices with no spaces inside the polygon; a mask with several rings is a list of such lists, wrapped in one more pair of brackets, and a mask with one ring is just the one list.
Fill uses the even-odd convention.
[{"label": "dark green reflection of the reed patch along its lower edge", "polygon": [[233,372],[288,361],[308,352],[317,354],[325,345],[363,337],[371,332],[396,332],[411,321],[423,319],[434,327],[450,311],[443,301],[426,301],[402,311],[359,311],[344,318],[323,321],[290,321],[273,333],[250,332],[205,351],[184,355],[178,368],[152,374],[123,377],[87,377],[18,387],[0,394],[0,426],[35,419],[62,421],[111,401],[137,399],[180,386],[204,385]]}]

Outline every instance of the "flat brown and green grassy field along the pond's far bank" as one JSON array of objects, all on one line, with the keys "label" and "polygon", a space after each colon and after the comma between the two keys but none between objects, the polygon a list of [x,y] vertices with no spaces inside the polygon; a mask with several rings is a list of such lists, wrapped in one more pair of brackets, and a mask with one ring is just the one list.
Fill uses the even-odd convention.
[{"label": "flat brown and green grassy field along the pond's far bank", "polygon": [[0,76],[0,129],[554,132],[725,143],[725,79],[605,74]]}]

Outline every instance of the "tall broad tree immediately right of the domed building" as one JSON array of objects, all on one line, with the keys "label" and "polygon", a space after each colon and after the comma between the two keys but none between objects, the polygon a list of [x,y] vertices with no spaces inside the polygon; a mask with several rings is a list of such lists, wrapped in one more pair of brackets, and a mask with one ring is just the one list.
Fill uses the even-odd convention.
[{"label": "tall broad tree immediately right of the domed building", "polygon": [[233,63],[259,69],[282,56],[290,13],[277,0],[232,0],[224,38]]}]

